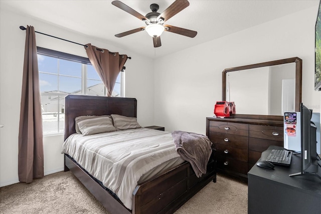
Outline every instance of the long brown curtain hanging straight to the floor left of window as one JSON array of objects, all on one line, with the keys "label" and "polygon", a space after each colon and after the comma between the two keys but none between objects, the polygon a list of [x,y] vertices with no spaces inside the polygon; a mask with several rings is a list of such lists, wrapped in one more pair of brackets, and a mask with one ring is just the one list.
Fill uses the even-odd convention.
[{"label": "long brown curtain hanging straight to the floor left of window", "polygon": [[35,29],[27,26],[19,124],[18,175],[31,183],[44,176],[41,99]]}]

